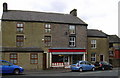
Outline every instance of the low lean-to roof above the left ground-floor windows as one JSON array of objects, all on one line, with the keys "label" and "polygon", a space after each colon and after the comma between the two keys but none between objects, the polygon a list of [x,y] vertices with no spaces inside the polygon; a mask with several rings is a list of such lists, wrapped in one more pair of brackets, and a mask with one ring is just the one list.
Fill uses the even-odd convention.
[{"label": "low lean-to roof above the left ground-floor windows", "polygon": [[2,52],[44,52],[41,48],[33,47],[2,47]]}]

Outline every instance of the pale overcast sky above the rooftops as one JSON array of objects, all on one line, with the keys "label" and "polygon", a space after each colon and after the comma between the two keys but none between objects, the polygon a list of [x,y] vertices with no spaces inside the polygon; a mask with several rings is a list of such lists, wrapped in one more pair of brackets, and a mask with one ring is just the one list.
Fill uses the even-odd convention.
[{"label": "pale overcast sky above the rooftops", "polygon": [[120,0],[0,0],[0,17],[3,3],[9,10],[29,10],[69,14],[77,9],[77,16],[89,29],[99,29],[109,35],[118,35],[118,2]]}]

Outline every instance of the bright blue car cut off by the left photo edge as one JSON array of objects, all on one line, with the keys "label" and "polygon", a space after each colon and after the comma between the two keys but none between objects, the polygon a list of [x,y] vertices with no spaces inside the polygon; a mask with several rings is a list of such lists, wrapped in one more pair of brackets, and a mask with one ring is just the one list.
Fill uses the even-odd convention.
[{"label": "bright blue car cut off by the left photo edge", "polygon": [[24,69],[20,66],[14,65],[8,61],[0,60],[0,73],[20,74]]}]

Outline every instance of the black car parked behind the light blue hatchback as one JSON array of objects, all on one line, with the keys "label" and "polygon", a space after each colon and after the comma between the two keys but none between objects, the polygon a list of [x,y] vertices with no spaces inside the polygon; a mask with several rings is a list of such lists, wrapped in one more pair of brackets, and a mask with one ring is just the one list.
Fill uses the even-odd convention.
[{"label": "black car parked behind the light blue hatchback", "polygon": [[101,70],[106,70],[106,69],[112,70],[112,68],[113,68],[113,66],[106,61],[95,62],[94,65],[95,65],[96,69],[101,69]]}]

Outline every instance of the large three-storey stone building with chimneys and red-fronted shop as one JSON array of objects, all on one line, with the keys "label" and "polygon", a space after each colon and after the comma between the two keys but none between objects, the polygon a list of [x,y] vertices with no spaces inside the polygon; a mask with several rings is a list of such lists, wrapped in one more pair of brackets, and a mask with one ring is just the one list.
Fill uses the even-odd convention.
[{"label": "large three-storey stone building with chimneys and red-fronted shop", "polygon": [[8,10],[3,3],[2,59],[25,69],[69,67],[86,60],[87,24],[70,14]]}]

